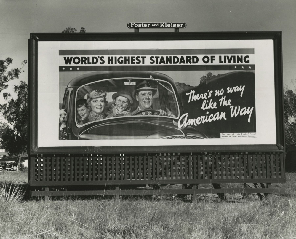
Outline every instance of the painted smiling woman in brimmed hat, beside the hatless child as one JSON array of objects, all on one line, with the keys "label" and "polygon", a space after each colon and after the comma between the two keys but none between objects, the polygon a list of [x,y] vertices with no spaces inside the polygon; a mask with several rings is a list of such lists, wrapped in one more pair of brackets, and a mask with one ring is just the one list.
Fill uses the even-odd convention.
[{"label": "painted smiling woman in brimmed hat, beside the hatless child", "polygon": [[87,106],[91,112],[89,113],[89,121],[96,121],[105,119],[106,115],[104,112],[106,103],[106,92],[103,90],[91,90],[87,94]]}]

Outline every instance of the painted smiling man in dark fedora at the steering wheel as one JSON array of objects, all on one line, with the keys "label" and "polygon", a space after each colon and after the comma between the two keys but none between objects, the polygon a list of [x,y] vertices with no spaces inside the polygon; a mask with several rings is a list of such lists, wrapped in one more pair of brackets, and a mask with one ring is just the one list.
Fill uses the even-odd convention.
[{"label": "painted smiling man in dark fedora at the steering wheel", "polygon": [[[135,115],[139,111],[143,111],[139,114],[142,115],[153,115],[152,111],[152,103],[153,103],[153,95],[157,92],[156,88],[152,88],[147,80],[138,81],[136,83],[136,89],[132,92],[132,97],[138,101],[139,105],[135,111],[132,112],[132,115]],[[144,111],[145,110],[145,111]],[[158,115],[161,116],[172,116],[172,114],[168,114],[166,111],[159,109],[157,110]]]}]

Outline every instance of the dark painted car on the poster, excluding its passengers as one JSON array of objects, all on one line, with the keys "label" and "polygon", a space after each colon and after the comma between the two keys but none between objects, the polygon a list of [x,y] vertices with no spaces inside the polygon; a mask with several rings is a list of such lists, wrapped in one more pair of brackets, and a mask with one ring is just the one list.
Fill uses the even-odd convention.
[{"label": "dark painted car on the poster, excluding its passengers", "polygon": [[[138,81],[149,82],[157,89],[153,95],[150,115],[141,112],[122,117],[110,117],[92,122],[80,123],[76,102],[87,99],[87,94],[99,89],[106,92],[107,112],[112,104],[112,95],[128,91],[131,95]],[[134,99],[132,112],[137,109]],[[114,71],[84,74],[68,83],[65,89],[62,109],[67,113],[66,127],[59,130],[60,140],[125,140],[125,139],[203,139],[203,133],[191,126],[178,128],[178,119],[184,114],[180,96],[174,81],[165,74],[151,71]],[[170,112],[169,116],[159,115],[159,110]]]}]

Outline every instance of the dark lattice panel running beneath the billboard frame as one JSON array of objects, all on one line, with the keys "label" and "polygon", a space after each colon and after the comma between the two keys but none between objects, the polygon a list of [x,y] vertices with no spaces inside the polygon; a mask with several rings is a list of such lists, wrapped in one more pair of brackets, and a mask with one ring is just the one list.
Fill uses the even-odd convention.
[{"label": "dark lattice panel running beneath the billboard frame", "polygon": [[120,184],[120,181],[130,180],[284,181],[283,153],[87,154],[30,159],[31,185],[106,184],[110,181]]}]

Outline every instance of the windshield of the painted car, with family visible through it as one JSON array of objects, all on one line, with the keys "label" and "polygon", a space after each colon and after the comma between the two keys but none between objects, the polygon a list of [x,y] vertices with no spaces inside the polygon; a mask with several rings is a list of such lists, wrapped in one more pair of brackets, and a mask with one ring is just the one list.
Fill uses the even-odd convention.
[{"label": "windshield of the painted car, with family visible through it", "polygon": [[172,85],[161,79],[116,78],[79,87],[75,101],[76,125],[113,117],[179,117]]}]

